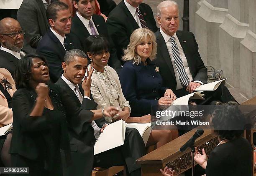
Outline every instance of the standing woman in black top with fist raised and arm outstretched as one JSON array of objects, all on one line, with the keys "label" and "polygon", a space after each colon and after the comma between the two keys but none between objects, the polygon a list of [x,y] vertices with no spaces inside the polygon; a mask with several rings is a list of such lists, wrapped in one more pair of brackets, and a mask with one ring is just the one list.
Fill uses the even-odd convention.
[{"label": "standing woman in black top with fist raised and arm outstretched", "polygon": [[13,95],[12,166],[29,167],[32,176],[61,176],[60,148],[65,152],[66,164],[70,163],[67,123],[81,132],[88,117],[113,116],[117,110],[109,107],[89,111],[83,103],[77,108],[57,85],[46,85],[49,69],[46,59],[39,55],[22,58],[14,77],[18,90]]}]

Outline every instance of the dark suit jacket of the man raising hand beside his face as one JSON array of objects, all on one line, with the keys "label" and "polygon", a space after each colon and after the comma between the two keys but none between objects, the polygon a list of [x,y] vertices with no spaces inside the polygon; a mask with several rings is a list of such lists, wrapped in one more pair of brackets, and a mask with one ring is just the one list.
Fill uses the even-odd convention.
[{"label": "dark suit jacket of the man raising hand beside his face", "polygon": [[[69,94],[77,107],[81,106],[79,99],[63,79],[59,78],[55,84],[59,85],[63,91],[66,91]],[[81,93],[84,95],[83,91],[81,91]],[[87,110],[93,110],[97,107],[97,103],[93,101],[92,96],[91,100],[84,98],[82,103],[85,104]],[[100,118],[96,120],[95,123],[101,128],[104,123],[108,122],[106,122],[104,118]],[[75,133],[72,126],[69,126],[68,131],[73,163],[68,168],[64,168],[64,176],[90,175],[94,160],[93,147],[95,143],[92,123],[91,121],[84,123],[80,134]]]}]

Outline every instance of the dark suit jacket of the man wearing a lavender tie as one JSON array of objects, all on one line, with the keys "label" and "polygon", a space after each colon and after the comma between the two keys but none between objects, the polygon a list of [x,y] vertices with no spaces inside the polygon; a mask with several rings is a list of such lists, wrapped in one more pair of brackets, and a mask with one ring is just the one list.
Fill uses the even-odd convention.
[{"label": "dark suit jacket of the man wearing a lavender tie", "polygon": [[[107,29],[107,25],[105,23],[104,18],[100,15],[93,14],[92,20],[97,28],[98,33],[104,36],[105,38],[107,38],[108,42],[110,43],[110,58],[108,60],[108,65],[114,68],[116,72],[119,72],[121,69],[121,61],[120,61],[121,58],[117,58],[115,45],[113,44],[113,41],[108,35],[108,29]],[[71,33],[77,35],[77,37],[80,39],[84,52],[86,52],[87,49],[85,45],[85,39],[90,36],[90,33],[85,28],[84,24],[77,17],[76,14],[72,19]]]}]

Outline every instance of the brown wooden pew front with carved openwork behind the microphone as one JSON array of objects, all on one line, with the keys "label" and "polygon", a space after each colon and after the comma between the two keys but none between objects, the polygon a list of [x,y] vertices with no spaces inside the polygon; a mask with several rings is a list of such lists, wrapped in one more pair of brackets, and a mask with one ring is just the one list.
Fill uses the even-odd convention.
[{"label": "brown wooden pew front with carved openwork behind the microphone", "polygon": [[[256,105],[256,97],[242,103],[243,105]],[[209,153],[218,145],[218,138],[211,133],[208,126],[200,126],[198,128],[204,129],[204,134],[197,138],[195,141],[195,146],[199,149],[205,148],[207,156]],[[189,138],[195,133],[198,129],[193,129],[188,133],[179,136],[173,141],[157,148],[156,150],[148,153],[147,155],[139,158],[138,163],[141,164],[141,174],[142,176],[161,176],[160,169],[163,169],[165,166],[173,168],[178,173],[183,173],[192,166],[192,158],[190,154],[190,149],[187,149],[184,152],[180,152],[179,148],[189,140]],[[246,130],[245,137],[251,143],[253,147],[253,130]],[[253,152],[254,163],[254,152]],[[254,175],[254,164],[252,166],[253,175]]]}]

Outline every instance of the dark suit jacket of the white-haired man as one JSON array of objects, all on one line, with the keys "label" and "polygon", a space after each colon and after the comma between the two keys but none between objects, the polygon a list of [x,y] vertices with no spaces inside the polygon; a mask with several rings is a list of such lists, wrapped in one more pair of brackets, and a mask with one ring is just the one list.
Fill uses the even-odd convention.
[{"label": "dark suit jacket of the white-haired man", "polygon": [[[166,43],[160,33],[160,30],[155,34],[157,43],[157,56],[155,61],[159,66],[159,73],[163,78],[163,86],[176,91],[177,80],[175,78],[172,60]],[[177,31],[176,35],[179,38],[179,42],[187,58],[187,63],[193,80],[200,80],[202,83],[207,83],[207,68],[198,53],[198,45],[195,40],[195,36],[193,33],[187,31]]]}]

